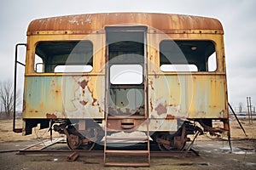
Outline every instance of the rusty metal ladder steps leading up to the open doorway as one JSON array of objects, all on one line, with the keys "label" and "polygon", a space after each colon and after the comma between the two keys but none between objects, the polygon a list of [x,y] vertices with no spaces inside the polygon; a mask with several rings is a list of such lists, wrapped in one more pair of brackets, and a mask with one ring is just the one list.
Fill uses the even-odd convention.
[{"label": "rusty metal ladder steps leading up to the open doorway", "polygon": [[[105,126],[105,140],[104,140],[104,166],[105,167],[149,167],[150,166],[150,145],[149,145],[149,132],[148,132],[148,118],[145,119],[147,123],[146,137],[111,137],[108,134],[108,116],[106,116]],[[113,150],[108,148],[108,144],[114,140],[122,140],[126,142],[139,141],[147,143],[147,150]],[[111,143],[114,144],[114,143]],[[125,161],[108,161],[108,156],[147,156],[146,162],[125,162]]]}]

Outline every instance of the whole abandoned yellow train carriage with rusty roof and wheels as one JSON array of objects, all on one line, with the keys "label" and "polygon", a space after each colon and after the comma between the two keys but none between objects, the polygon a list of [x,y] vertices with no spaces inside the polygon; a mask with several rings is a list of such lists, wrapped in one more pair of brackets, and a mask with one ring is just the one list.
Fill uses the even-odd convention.
[{"label": "whole abandoned yellow train carriage with rusty roof and wheels", "polygon": [[[33,20],[27,30],[22,132],[54,124],[72,148],[85,144],[85,149],[102,139],[107,121],[109,132],[148,129],[165,150],[182,149],[186,135],[198,130],[189,122],[230,136],[223,35],[218,20],[179,14]],[[195,70],[173,71],[172,65]],[[69,66],[83,70],[68,71]],[[117,75],[122,68],[136,72],[127,73],[132,78],[125,83]],[[213,120],[224,127],[212,127]]]}]

